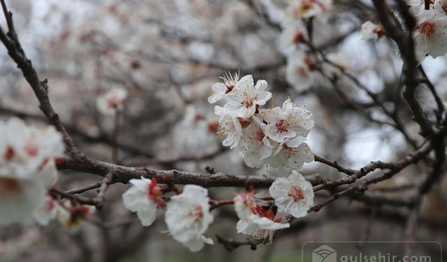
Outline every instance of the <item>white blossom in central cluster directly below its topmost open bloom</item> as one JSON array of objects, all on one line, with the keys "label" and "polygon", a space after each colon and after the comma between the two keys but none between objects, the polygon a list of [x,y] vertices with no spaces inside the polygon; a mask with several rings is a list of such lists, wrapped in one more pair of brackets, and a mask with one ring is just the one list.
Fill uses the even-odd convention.
[{"label": "white blossom in central cluster directly below its topmost open bloom", "polygon": [[244,129],[240,150],[247,166],[260,168],[264,165],[265,159],[272,154],[275,145],[267,136],[265,131],[267,125],[258,117],[252,117],[252,119],[249,127]]}]

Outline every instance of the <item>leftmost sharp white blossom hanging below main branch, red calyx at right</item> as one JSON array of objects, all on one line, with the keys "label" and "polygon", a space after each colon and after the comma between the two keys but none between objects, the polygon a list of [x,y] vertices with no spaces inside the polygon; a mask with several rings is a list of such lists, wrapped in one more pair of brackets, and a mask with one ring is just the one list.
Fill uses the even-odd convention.
[{"label": "leftmost sharp white blossom hanging below main branch, red calyx at right", "polygon": [[161,189],[156,186],[156,180],[132,179],[132,187],[123,194],[124,207],[136,212],[143,226],[150,226],[156,219],[157,197]]}]

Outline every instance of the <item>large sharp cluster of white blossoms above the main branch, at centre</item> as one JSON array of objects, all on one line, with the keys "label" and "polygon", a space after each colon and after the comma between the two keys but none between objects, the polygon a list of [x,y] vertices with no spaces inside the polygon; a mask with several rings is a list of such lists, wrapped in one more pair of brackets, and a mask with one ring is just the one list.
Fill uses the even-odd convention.
[{"label": "large sharp cluster of white blossoms above the main branch, at centre", "polygon": [[265,80],[258,80],[254,85],[251,75],[240,80],[236,75],[213,85],[214,93],[208,101],[225,101],[223,107],[214,107],[215,114],[220,117],[221,133],[226,135],[223,145],[237,149],[252,168],[265,164],[276,168],[301,168],[303,163],[314,161],[305,143],[314,126],[312,113],[290,99],[281,108],[261,108],[272,98],[266,91],[267,86]]}]

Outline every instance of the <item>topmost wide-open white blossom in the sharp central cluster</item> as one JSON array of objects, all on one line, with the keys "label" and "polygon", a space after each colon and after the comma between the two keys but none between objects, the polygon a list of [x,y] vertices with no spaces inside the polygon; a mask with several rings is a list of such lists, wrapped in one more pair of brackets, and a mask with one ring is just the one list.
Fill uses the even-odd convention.
[{"label": "topmost wide-open white blossom in the sharp central cluster", "polygon": [[226,96],[223,108],[233,117],[251,117],[259,106],[272,98],[272,93],[265,91],[267,85],[265,80],[258,80],[254,85],[253,77],[245,75]]}]

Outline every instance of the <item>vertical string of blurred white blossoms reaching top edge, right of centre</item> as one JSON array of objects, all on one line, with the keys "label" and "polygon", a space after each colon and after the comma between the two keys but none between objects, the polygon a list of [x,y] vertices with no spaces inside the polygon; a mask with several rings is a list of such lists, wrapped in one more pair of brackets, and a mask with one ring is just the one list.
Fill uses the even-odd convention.
[{"label": "vertical string of blurred white blossoms reaching top edge, right of centre", "polygon": [[316,75],[316,62],[299,45],[309,40],[305,20],[323,18],[331,6],[331,0],[293,0],[284,12],[280,41],[285,48],[294,48],[287,57],[286,80],[298,92],[312,87]]}]

